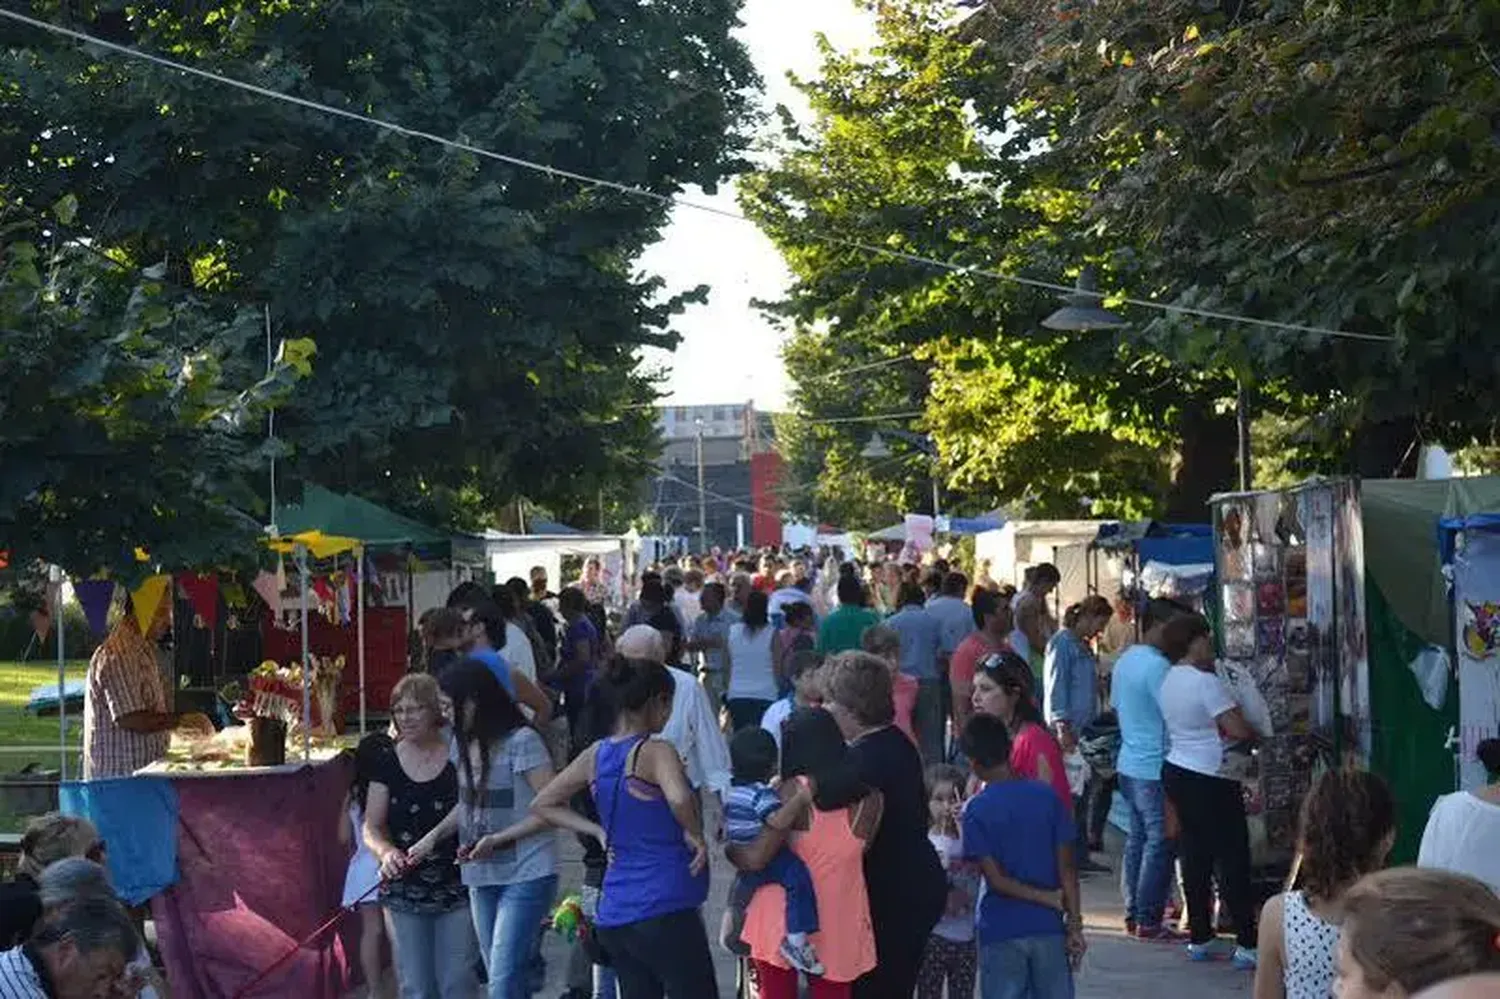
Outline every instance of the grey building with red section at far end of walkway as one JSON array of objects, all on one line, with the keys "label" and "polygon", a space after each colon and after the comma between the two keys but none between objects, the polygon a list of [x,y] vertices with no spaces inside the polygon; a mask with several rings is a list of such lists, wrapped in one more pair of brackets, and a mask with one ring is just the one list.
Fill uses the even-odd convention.
[{"label": "grey building with red section at far end of walkway", "polygon": [[[693,538],[692,546],[734,548],[782,543],[782,459],[771,414],[753,402],[660,406],[662,465],[646,483],[645,507],[658,534]],[[699,435],[702,483],[699,494]],[[699,543],[699,518],[706,540]],[[741,522],[742,518],[742,522]]]}]

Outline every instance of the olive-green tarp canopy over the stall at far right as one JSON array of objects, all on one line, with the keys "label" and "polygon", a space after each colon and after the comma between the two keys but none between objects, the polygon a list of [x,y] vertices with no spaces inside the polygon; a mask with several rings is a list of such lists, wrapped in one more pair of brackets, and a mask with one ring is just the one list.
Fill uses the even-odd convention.
[{"label": "olive-green tarp canopy over the stall at far right", "polygon": [[1452,624],[1437,552],[1437,522],[1450,516],[1500,513],[1500,477],[1377,478],[1362,482],[1359,489],[1366,576],[1407,630],[1431,645],[1446,646]]}]

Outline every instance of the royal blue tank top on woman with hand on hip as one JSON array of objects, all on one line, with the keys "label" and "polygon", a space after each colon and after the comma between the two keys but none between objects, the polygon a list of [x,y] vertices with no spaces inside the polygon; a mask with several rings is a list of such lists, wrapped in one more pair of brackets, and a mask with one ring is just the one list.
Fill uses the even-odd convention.
[{"label": "royal blue tank top on woman with hand on hip", "polygon": [[708,898],[708,868],[688,873],[693,855],[666,795],[632,776],[644,742],[644,735],[602,740],[594,756],[594,806],[609,846],[596,920],[604,928],[698,909]]}]

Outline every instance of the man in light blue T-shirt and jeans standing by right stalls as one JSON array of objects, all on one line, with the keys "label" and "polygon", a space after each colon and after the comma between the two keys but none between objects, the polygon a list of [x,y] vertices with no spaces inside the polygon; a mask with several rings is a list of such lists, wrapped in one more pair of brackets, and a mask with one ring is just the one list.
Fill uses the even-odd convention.
[{"label": "man in light blue T-shirt and jeans standing by right stalls", "polygon": [[1186,939],[1161,924],[1172,884],[1173,844],[1167,838],[1167,795],[1161,786],[1167,723],[1160,699],[1172,660],[1160,642],[1161,626],[1184,610],[1172,600],[1152,600],[1142,615],[1143,642],[1119,657],[1110,681],[1110,706],[1120,723],[1120,754],[1114,770],[1130,808],[1125,932],[1144,940]]}]

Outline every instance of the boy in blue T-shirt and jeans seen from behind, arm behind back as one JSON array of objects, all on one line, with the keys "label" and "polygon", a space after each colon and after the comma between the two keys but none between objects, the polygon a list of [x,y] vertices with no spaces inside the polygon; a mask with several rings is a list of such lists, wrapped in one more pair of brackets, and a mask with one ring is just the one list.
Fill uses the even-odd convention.
[{"label": "boy in blue T-shirt and jeans seen from behind, arm behind back", "polygon": [[984,790],[963,808],[963,854],[980,866],[980,999],[1072,999],[1083,914],[1072,818],[1058,794],[1011,772],[1005,723],[975,716],[960,741]]}]

